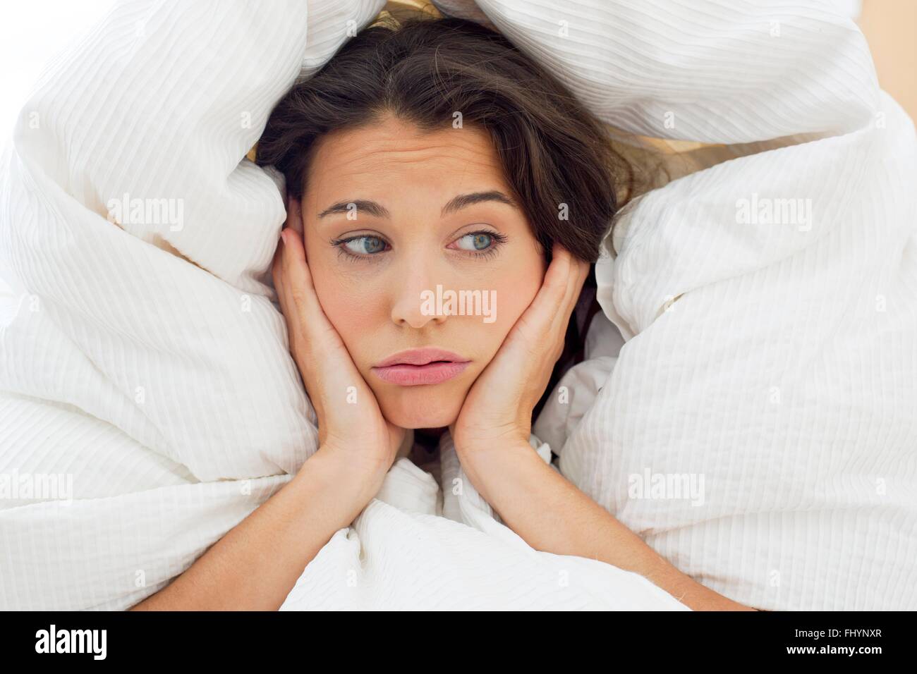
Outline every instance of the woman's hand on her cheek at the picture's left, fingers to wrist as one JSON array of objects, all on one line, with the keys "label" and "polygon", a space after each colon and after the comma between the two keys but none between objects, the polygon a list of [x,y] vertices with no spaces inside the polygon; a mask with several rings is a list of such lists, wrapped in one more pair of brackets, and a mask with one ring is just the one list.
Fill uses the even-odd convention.
[{"label": "woman's hand on her cheek at the picture's left, fingers to wrist", "polygon": [[376,396],[318,301],[306,262],[300,203],[295,199],[288,201],[281,236],[273,260],[274,287],[286,319],[290,352],[318,415],[319,448],[345,459],[348,466],[367,468],[381,481],[392,467],[405,430],[382,416]]}]

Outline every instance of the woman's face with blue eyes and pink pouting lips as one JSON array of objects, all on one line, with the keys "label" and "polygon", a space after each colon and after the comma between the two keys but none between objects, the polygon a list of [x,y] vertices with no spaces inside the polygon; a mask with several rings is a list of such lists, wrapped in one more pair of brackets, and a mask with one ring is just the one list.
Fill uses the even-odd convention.
[{"label": "woman's face with blue eyes and pink pouting lips", "polygon": [[[315,292],[395,425],[454,422],[541,286],[542,251],[521,206],[506,200],[480,128],[424,132],[390,116],[317,141],[302,202]],[[469,362],[378,369],[429,347]]]}]

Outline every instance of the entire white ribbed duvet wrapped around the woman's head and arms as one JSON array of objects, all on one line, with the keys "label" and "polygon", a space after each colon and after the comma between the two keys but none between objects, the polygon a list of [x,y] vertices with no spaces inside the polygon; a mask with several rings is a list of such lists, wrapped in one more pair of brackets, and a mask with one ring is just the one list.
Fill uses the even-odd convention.
[{"label": "entire white ribbed duvet wrapped around the woman's head and arms", "polygon": [[[127,608],[315,451],[265,284],[282,195],[243,158],[381,5],[123,2],[42,78],[0,157],[0,608]],[[624,215],[597,273],[627,342],[606,353],[611,333],[591,333],[577,404],[535,429],[561,470],[737,601],[917,607],[913,127],[856,27],[814,2],[479,5],[624,131],[820,138]],[[135,217],[135,198],[165,216]],[[803,199],[796,222],[761,222],[786,198]],[[684,609],[528,547],[469,481],[451,493],[448,446],[443,464],[442,515],[400,459],[283,608]],[[629,495],[645,469],[703,475],[702,504]],[[47,481],[67,498],[19,489]]]}]

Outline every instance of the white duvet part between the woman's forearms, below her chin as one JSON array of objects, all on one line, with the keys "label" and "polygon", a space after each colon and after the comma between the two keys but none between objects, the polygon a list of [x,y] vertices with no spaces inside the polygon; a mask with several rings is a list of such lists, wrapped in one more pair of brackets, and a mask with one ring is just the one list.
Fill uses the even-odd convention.
[{"label": "white duvet part between the woman's forearms, below her chin", "polygon": [[[536,436],[529,443],[550,459]],[[395,461],[353,526],[306,567],[282,611],[688,610],[630,571],[529,547],[474,489],[448,432],[439,452],[441,484],[410,459]]]}]

